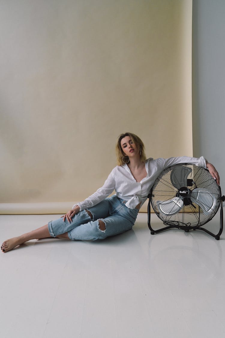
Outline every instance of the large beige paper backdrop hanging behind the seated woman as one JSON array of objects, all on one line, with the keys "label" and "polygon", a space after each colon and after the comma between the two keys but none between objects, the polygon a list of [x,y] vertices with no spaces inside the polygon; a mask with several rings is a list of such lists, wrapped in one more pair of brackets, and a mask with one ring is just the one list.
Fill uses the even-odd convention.
[{"label": "large beige paper backdrop hanging behind the seated woman", "polygon": [[192,1],[1,0],[0,22],[1,213],[89,196],[121,132],[192,155]]}]

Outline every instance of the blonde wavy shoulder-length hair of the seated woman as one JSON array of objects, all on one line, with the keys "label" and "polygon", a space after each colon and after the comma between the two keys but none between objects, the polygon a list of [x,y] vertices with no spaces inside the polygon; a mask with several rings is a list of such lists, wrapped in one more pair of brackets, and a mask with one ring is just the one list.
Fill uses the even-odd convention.
[{"label": "blonde wavy shoulder-length hair of the seated woman", "polygon": [[121,148],[121,140],[126,137],[130,136],[132,142],[136,145],[137,148],[141,151],[141,162],[144,163],[146,160],[145,150],[144,150],[144,143],[141,141],[140,137],[133,134],[132,132],[125,132],[125,134],[120,134],[118,137],[118,140],[116,142],[116,158],[117,158],[117,164],[119,166],[123,165],[123,156],[125,155],[122,148]]}]

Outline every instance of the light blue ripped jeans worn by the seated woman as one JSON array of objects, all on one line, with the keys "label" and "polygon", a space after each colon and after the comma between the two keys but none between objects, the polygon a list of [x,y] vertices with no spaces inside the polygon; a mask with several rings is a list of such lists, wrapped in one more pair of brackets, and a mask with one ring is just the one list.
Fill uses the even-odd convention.
[{"label": "light blue ripped jeans worn by the seated woman", "polygon": [[[96,206],[77,213],[71,223],[67,219],[63,222],[63,218],[49,222],[49,233],[56,237],[67,232],[71,240],[105,239],[121,234],[132,229],[138,214],[138,209],[129,209],[125,203],[116,195],[107,197]],[[105,223],[105,230],[100,229],[99,220]]]}]

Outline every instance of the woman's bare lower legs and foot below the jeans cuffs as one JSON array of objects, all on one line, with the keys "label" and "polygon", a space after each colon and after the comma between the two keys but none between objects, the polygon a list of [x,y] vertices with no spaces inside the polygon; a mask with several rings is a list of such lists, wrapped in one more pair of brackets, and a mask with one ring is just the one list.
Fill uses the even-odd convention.
[{"label": "woman's bare lower legs and foot below the jeans cuffs", "polygon": [[[7,252],[15,248],[17,245],[21,245],[31,239],[41,239],[41,238],[46,238],[46,237],[51,237],[49,233],[49,229],[48,229],[48,224],[41,226],[40,228],[30,231],[26,234],[23,234],[21,236],[7,239],[6,241],[2,243],[1,250],[2,252]],[[61,234],[57,237],[63,238],[63,239],[69,239],[67,233]]]}]

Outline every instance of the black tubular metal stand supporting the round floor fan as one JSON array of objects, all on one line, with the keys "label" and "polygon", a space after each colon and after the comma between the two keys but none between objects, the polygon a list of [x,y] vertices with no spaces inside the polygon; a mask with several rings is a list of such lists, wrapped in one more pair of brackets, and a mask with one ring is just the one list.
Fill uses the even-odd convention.
[{"label": "black tubular metal stand supporting the round floor fan", "polygon": [[[221,189],[220,189],[220,193],[221,193]],[[210,236],[213,236],[216,240],[220,239],[220,235],[223,232],[223,202],[225,201],[225,196],[221,196],[220,230],[219,230],[218,234],[213,234],[212,232],[210,232],[207,229],[203,228],[201,224],[200,225],[195,225],[195,226],[191,226],[191,225],[187,226],[187,225],[184,225],[184,224],[179,224],[179,225],[178,224],[169,224],[169,225],[167,224],[167,226],[164,226],[161,229],[154,230],[151,227],[151,224],[150,224],[150,218],[151,218],[151,211],[150,211],[151,197],[152,197],[152,190],[151,190],[150,194],[148,194],[148,198],[149,198],[149,200],[148,200],[148,227],[149,227],[149,230],[151,232],[151,235],[160,233],[162,231],[165,231],[165,230],[168,230],[168,229],[171,229],[171,228],[177,228],[177,229],[184,230],[185,232],[189,232],[190,230],[202,230],[202,231],[206,232],[207,234],[209,234]],[[164,224],[166,224],[166,222],[164,222]]]}]

